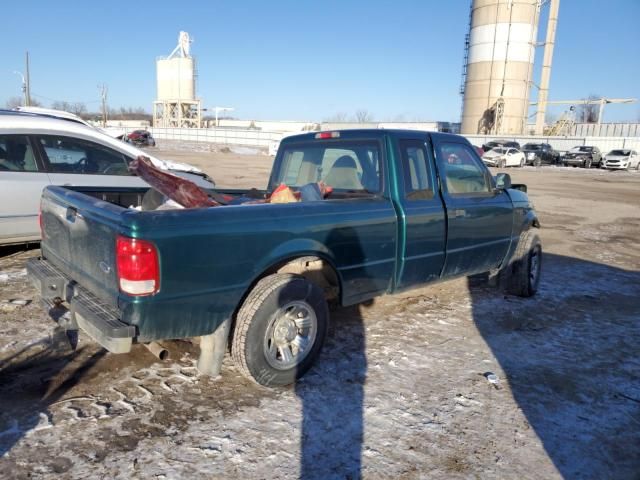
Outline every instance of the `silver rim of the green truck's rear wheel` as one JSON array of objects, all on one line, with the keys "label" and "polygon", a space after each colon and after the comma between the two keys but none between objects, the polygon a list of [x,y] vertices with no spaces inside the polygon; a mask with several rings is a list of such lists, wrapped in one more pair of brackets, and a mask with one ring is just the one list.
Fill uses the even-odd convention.
[{"label": "silver rim of the green truck's rear wheel", "polygon": [[309,354],[318,333],[318,319],[304,301],[289,302],[273,316],[264,339],[264,355],[269,365],[289,370]]}]

